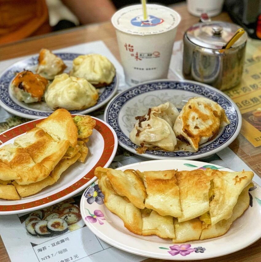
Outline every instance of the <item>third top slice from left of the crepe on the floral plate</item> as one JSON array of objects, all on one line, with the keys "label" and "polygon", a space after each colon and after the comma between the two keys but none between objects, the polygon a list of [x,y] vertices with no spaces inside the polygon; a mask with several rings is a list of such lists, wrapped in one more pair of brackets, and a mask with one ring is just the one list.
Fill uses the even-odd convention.
[{"label": "third top slice from left of the crepe on the floral plate", "polygon": [[202,169],[178,171],[175,176],[182,211],[178,222],[190,220],[208,212],[210,208],[208,192],[212,177]]}]

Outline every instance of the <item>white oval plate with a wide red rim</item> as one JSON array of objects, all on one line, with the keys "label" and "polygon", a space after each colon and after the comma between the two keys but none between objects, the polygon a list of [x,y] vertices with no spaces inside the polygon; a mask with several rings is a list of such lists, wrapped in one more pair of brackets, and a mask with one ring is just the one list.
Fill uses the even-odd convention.
[{"label": "white oval plate with a wide red rim", "polygon": [[[61,175],[53,185],[44,188],[35,195],[20,200],[0,199],[0,215],[11,215],[45,208],[65,200],[96,180],[96,167],[108,167],[113,160],[118,140],[115,131],[102,120],[96,120],[96,126],[87,143],[88,156],[84,163],[76,162]],[[35,127],[42,119],[33,120],[0,134],[0,147],[13,143],[14,139]]]}]

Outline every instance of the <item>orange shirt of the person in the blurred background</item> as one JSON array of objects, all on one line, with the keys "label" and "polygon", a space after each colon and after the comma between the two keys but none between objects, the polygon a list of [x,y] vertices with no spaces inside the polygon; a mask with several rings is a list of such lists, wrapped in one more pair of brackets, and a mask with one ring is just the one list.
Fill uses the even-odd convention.
[{"label": "orange shirt of the person in the blurred background", "polygon": [[0,0],[0,44],[50,31],[45,0]]}]

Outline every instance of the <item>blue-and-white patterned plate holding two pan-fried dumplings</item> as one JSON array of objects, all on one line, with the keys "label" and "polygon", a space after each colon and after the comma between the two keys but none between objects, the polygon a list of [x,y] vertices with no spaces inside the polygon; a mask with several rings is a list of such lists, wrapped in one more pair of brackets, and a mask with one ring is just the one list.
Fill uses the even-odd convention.
[{"label": "blue-and-white patterned plate holding two pan-fried dumplings", "polygon": [[114,129],[119,145],[137,154],[137,145],[129,139],[136,123],[135,117],[145,115],[148,108],[171,102],[179,110],[192,97],[205,97],[224,108],[230,124],[221,128],[218,135],[202,145],[197,152],[147,150],[141,156],[151,159],[199,159],[212,155],[227,147],[236,139],[242,125],[242,117],[236,104],[223,92],[214,87],[194,81],[154,80],[116,95],[107,105],[104,120]]}]

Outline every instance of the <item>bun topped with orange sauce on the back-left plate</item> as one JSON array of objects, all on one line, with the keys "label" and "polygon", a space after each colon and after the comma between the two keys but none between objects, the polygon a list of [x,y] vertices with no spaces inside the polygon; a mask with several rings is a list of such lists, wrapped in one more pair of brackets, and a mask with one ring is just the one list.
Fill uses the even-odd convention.
[{"label": "bun topped with orange sauce on the back-left plate", "polygon": [[11,83],[14,96],[25,103],[40,102],[49,81],[41,75],[31,71],[22,71],[16,75]]}]

